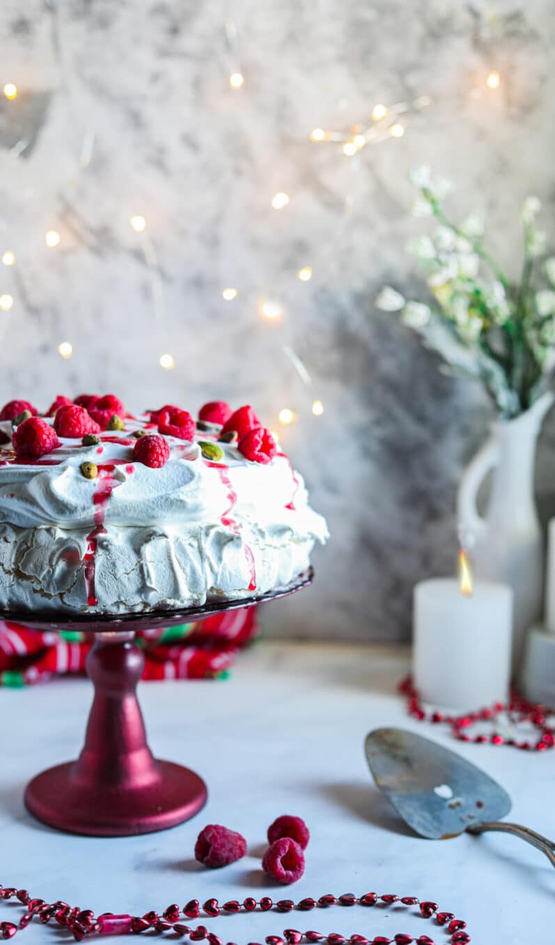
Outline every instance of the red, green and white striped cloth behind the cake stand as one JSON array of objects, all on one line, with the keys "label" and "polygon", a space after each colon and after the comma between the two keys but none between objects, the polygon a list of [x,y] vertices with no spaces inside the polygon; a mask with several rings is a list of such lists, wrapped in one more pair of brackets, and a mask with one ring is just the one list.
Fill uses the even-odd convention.
[{"label": "red, green and white striped cloth behind the cake stand", "polygon": [[[217,679],[256,634],[256,608],[229,610],[139,638],[143,679]],[[30,630],[0,622],[0,685],[21,687],[82,674],[92,634]]]}]

